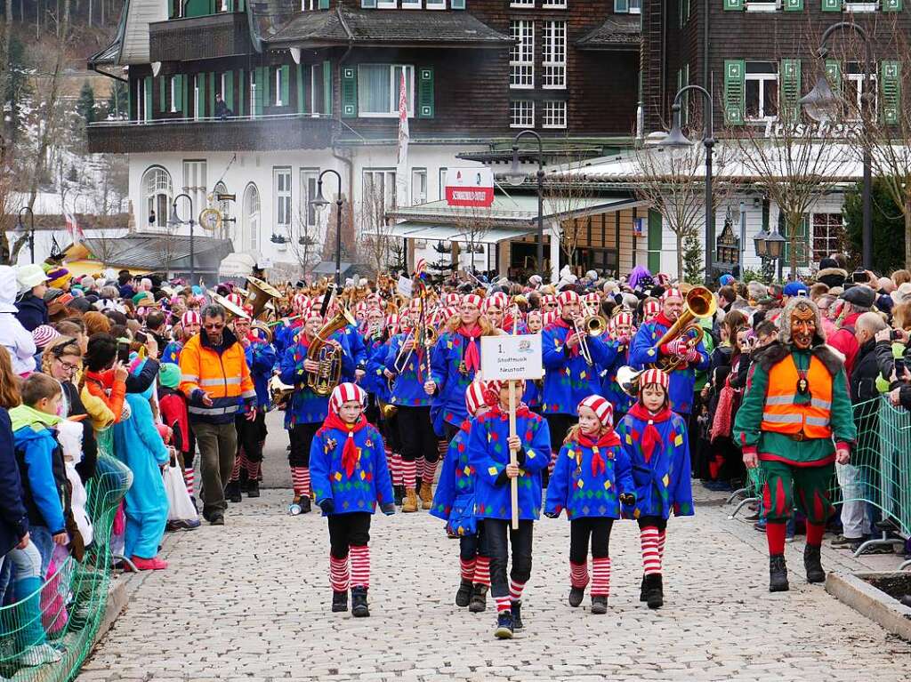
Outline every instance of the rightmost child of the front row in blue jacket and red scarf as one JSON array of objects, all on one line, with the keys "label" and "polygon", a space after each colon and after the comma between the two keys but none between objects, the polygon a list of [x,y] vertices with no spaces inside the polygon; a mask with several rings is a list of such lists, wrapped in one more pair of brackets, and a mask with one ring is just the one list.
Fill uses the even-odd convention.
[{"label": "rightmost child of the front row in blue jacket and red scarf", "polygon": [[668,518],[671,512],[693,514],[686,421],[670,410],[668,384],[668,375],[660,370],[642,372],[639,401],[617,427],[636,485],[636,501],[623,505],[623,516],[639,524],[644,573],[640,601],[649,608],[664,604],[661,564]]}]

